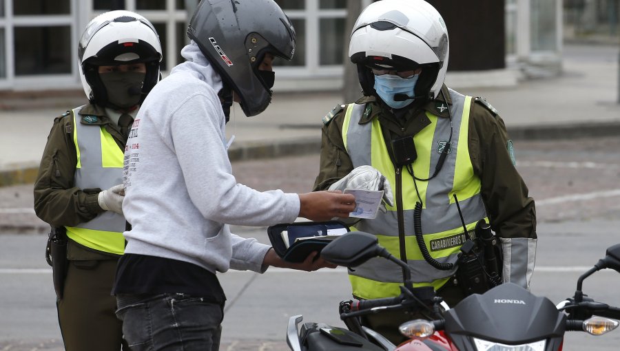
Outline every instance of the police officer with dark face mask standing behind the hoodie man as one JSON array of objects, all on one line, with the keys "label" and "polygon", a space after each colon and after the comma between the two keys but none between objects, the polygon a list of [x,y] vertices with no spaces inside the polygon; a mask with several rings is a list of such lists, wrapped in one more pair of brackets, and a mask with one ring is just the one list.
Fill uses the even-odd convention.
[{"label": "police officer with dark face mask standing behind the hoodie man", "polygon": [[[54,257],[65,350],[121,350],[110,292],[125,248],[123,151],[138,108],[159,80],[161,43],[141,15],[105,12],[88,23],[78,58],[89,103],[54,120],[34,210],[68,243],[65,257]],[[63,259],[66,270],[56,266]]]}]

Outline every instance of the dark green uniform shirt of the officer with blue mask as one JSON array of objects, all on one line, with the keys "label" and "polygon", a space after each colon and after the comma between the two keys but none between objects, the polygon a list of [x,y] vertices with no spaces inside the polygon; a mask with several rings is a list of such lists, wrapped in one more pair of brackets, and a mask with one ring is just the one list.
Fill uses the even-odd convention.
[{"label": "dark green uniform shirt of the officer with blue mask", "polygon": [[[448,118],[447,105],[451,105],[451,100],[447,87],[444,85],[442,89],[444,94],[435,100],[422,105],[414,102],[410,108],[399,111],[399,116],[373,96],[365,96],[356,101],[367,103],[360,123],[378,118],[386,142],[402,136],[415,136],[431,123],[426,111]],[[315,191],[328,189],[353,170],[342,142],[344,106],[336,107],[323,120],[320,172],[314,184]],[[528,188],[515,169],[512,142],[508,140],[504,120],[486,100],[472,99],[468,133],[471,163],[482,182],[482,199],[491,227],[499,237],[536,238],[534,200],[528,197]],[[388,148],[391,149],[391,145]]]}]

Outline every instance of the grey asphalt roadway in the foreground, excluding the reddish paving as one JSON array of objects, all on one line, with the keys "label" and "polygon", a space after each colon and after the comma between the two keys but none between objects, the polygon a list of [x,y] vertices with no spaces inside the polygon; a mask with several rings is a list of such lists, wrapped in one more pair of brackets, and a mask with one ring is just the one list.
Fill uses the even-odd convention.
[{"label": "grey asphalt roadway in the foreground, excluding the reddish paving", "polygon": [[[616,244],[620,221],[546,223],[539,226],[535,294],[558,302],[575,291],[579,274]],[[246,232],[266,240],[261,232]],[[262,234],[262,236],[260,235]],[[62,350],[56,326],[51,273],[43,262],[44,235],[3,235],[0,258],[0,350]],[[594,240],[593,240],[594,239]],[[21,259],[19,259],[21,258]],[[285,330],[291,315],[304,321],[342,326],[338,302],[349,299],[342,269],[315,273],[269,270],[265,275],[230,272],[220,275],[227,292],[222,350],[287,350]],[[611,270],[586,280],[588,295],[620,306],[620,276]],[[594,338],[583,333],[567,336],[564,350],[617,350],[620,333]]]}]

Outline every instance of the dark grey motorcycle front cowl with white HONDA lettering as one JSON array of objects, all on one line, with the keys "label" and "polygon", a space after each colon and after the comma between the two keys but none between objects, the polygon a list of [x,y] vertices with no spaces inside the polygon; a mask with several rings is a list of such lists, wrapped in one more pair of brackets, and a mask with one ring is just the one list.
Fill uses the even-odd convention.
[{"label": "dark grey motorcycle front cowl with white HONDA lettering", "polygon": [[445,330],[455,341],[466,336],[512,345],[561,339],[566,319],[546,297],[511,283],[470,295],[444,317]]}]

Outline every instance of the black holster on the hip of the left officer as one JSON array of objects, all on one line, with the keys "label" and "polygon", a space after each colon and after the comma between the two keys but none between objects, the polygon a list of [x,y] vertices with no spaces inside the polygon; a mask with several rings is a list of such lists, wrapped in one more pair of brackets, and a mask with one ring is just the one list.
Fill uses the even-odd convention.
[{"label": "black holster on the hip of the left officer", "polygon": [[52,279],[54,291],[58,299],[63,298],[63,288],[67,275],[67,235],[65,228],[54,228],[48,237],[48,246],[45,251],[45,259],[52,266]]}]

